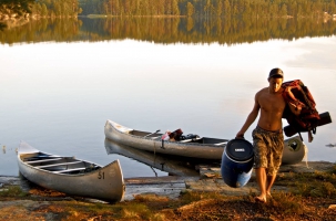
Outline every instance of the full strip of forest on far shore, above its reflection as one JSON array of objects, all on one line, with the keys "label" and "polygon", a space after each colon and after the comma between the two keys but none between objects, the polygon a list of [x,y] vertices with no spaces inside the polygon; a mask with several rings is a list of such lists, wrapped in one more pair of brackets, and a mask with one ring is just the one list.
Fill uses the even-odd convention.
[{"label": "full strip of forest on far shore, above its reflection", "polygon": [[1,0],[1,14],[42,18],[106,17],[323,17],[336,0]]}]

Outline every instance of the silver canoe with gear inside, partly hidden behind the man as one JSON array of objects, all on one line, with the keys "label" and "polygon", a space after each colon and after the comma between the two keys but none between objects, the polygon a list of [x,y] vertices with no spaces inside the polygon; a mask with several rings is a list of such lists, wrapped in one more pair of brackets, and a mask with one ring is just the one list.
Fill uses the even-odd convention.
[{"label": "silver canoe with gear inside, partly hidden behind the man", "polygon": [[[222,159],[224,148],[228,141],[228,139],[208,137],[182,141],[162,141],[161,136],[163,134],[135,130],[110,119],[105,123],[104,133],[108,139],[141,150],[215,160]],[[283,164],[297,164],[302,161],[304,156],[304,144],[298,136],[285,140]]]}]

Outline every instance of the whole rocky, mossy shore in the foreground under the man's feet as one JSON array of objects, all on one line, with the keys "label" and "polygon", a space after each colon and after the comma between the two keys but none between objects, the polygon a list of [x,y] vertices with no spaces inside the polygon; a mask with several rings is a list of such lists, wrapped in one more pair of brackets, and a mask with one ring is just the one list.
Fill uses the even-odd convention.
[{"label": "whole rocky, mossy shore in the foreground under the man's feet", "polygon": [[[308,167],[307,167],[308,165]],[[267,203],[254,200],[254,173],[242,188],[227,187],[220,168],[202,167],[197,177],[125,178],[121,202],[67,196],[32,185],[20,176],[0,176],[1,220],[330,220],[336,217],[336,164],[309,161],[281,167]],[[329,172],[332,171],[332,173]],[[325,175],[323,175],[325,172]],[[297,173],[297,176],[296,176]],[[298,175],[302,173],[302,175]],[[332,176],[332,178],[330,178]],[[296,182],[302,182],[295,186]],[[332,193],[317,186],[327,186]],[[297,183],[296,183],[297,185]],[[302,187],[313,187],[306,196]],[[316,189],[317,188],[317,189]],[[295,193],[295,191],[298,191]],[[318,194],[316,194],[318,193]]]}]

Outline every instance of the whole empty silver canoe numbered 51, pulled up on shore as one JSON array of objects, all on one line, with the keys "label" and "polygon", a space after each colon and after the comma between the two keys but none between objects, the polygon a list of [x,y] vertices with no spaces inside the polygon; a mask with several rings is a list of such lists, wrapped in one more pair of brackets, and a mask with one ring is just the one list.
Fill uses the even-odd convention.
[{"label": "whole empty silver canoe numbered 51, pulled up on shore", "polygon": [[108,202],[119,202],[124,196],[119,160],[102,167],[74,157],[42,152],[21,143],[18,165],[23,177],[47,189]]}]

